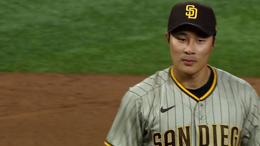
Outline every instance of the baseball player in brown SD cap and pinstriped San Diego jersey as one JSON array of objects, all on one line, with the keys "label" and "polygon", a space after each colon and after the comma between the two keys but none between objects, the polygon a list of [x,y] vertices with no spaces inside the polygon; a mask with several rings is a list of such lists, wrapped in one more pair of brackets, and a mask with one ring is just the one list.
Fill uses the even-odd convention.
[{"label": "baseball player in brown SD cap and pinstriped San Diego jersey", "polygon": [[165,36],[173,65],[129,88],[105,145],[260,146],[256,91],[207,64],[216,32],[209,6],[172,8]]}]

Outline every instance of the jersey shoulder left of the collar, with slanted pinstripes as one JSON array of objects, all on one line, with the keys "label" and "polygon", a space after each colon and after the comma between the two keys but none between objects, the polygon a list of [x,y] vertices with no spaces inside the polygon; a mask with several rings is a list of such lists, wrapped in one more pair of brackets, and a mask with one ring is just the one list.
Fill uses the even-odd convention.
[{"label": "jersey shoulder left of the collar, with slanted pinstripes", "polygon": [[141,97],[149,91],[161,87],[166,81],[171,79],[170,68],[155,72],[155,74],[145,78],[143,81],[129,88],[130,92]]}]

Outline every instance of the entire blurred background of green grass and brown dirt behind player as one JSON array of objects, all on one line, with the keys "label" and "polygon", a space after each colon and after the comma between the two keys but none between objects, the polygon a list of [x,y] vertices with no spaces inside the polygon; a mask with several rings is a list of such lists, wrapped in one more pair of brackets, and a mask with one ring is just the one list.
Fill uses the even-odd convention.
[{"label": "entire blurred background of green grass and brown dirt behind player", "polygon": [[[217,18],[209,64],[260,77],[260,1],[196,1]],[[0,144],[103,145],[127,89],[172,65],[165,32],[179,2],[0,1]],[[246,81],[260,93],[260,79]]]}]

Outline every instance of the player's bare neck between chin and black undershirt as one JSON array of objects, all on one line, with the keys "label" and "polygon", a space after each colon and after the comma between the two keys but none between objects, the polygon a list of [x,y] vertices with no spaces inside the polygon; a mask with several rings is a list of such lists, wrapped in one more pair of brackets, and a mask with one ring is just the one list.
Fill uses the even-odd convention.
[{"label": "player's bare neck between chin and black undershirt", "polygon": [[209,80],[211,70],[207,66],[193,75],[187,75],[177,69],[173,70],[173,74],[177,81],[187,89],[198,89],[205,85]]}]

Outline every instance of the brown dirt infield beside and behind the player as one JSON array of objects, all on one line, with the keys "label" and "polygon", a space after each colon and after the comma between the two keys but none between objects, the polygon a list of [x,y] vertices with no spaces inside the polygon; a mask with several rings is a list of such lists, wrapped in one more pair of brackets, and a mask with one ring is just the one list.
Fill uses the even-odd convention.
[{"label": "brown dirt infield beside and behind the player", "polygon": [[[0,144],[103,145],[123,94],[144,76],[0,75]],[[260,93],[260,79],[244,78]]]}]

